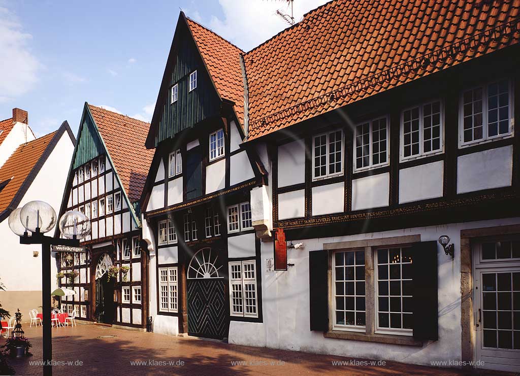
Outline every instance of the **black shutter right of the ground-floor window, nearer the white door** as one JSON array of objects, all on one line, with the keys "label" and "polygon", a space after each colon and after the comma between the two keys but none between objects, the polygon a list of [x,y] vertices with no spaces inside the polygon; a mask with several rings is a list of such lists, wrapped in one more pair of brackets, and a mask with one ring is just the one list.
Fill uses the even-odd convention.
[{"label": "black shutter right of the ground-floor window, nearer the white door", "polygon": [[437,241],[423,241],[412,247],[413,338],[437,341]]}]

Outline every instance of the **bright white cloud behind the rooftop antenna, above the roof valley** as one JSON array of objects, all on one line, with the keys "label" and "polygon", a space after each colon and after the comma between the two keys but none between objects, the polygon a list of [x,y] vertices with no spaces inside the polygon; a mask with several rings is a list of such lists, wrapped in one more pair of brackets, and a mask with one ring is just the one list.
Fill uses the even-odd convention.
[{"label": "bright white cloud behind the rooftop antenna, above the roof valley", "polygon": [[[300,21],[305,13],[329,0],[298,0],[294,2],[294,20]],[[244,51],[256,47],[290,25],[276,14],[291,14],[291,6],[286,2],[265,0],[219,0],[224,18],[212,16],[202,19],[199,12],[186,10],[188,17],[201,22]]]}]

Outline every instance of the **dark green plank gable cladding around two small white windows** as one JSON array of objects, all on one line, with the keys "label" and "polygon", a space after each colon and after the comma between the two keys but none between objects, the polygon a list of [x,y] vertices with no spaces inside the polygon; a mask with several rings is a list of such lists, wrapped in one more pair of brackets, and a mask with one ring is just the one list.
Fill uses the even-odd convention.
[{"label": "dark green plank gable cladding around two small white windows", "polygon": [[[170,85],[163,90],[162,116],[155,135],[155,146],[161,141],[173,138],[177,133],[192,128],[202,120],[220,113],[220,99],[210,76],[202,62],[197,46],[187,30],[177,38],[177,54],[170,75]],[[197,70],[197,88],[189,90],[190,73]],[[172,101],[172,87],[177,84],[178,99]]]}]

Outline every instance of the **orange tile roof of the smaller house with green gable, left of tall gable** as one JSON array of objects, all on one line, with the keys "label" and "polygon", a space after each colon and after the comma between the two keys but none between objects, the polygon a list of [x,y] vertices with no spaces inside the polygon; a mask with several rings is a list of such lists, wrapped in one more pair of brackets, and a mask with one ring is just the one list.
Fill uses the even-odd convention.
[{"label": "orange tile roof of the smaller house with green gable, left of tall gable", "polygon": [[145,147],[150,124],[91,104],[88,108],[128,198],[139,201],[154,153]]}]

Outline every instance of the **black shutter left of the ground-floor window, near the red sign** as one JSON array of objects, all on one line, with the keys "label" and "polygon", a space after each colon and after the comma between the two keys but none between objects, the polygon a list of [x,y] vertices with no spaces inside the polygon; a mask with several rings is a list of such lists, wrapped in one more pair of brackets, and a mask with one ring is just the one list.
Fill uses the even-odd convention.
[{"label": "black shutter left of the ground-floor window, near the red sign", "polygon": [[328,269],[327,251],[309,252],[310,330],[329,329]]}]

